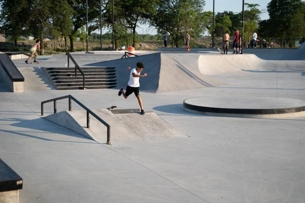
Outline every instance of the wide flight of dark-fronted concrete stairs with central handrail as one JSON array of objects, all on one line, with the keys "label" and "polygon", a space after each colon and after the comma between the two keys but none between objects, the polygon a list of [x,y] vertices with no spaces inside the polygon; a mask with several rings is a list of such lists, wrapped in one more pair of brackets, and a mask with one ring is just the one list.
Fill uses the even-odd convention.
[{"label": "wide flight of dark-fronted concrete stairs with central handrail", "polygon": [[[116,87],[115,67],[81,67],[86,89]],[[74,67],[47,67],[45,72],[57,90],[83,89],[82,75]]]}]

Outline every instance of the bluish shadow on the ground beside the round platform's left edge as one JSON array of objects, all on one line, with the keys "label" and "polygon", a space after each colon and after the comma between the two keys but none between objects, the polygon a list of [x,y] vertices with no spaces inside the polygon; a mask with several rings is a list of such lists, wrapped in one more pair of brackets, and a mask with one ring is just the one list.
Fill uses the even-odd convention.
[{"label": "bluish shadow on the ground beside the round platform's left edge", "polygon": [[[156,111],[171,113],[171,114],[180,114],[181,116],[204,116],[207,117],[209,115],[203,114],[195,114],[184,110],[183,104],[174,104],[174,105],[163,105],[153,108]],[[157,113],[158,114],[158,113]],[[158,114],[161,116],[161,114]],[[166,114],[166,116],[170,116]],[[174,115],[177,116],[177,115]]]}]

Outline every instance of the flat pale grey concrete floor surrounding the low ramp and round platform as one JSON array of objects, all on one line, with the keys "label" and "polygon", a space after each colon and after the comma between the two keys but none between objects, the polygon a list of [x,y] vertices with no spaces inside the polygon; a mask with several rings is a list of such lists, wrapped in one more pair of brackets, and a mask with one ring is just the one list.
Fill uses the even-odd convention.
[{"label": "flat pale grey concrete floor surrounding the low ramp and round platform", "polygon": [[[230,118],[183,110],[183,100],[199,96],[305,99],[303,69],[242,70],[208,76],[227,86],[141,92],[145,111],[187,137],[113,146],[41,118],[40,102],[72,94],[89,109],[139,108],[134,96],[118,97],[117,89],[11,93],[0,87],[0,155],[23,178],[20,202],[303,202],[305,117]],[[58,101],[57,111],[66,110],[68,101]],[[46,115],[52,111],[52,104],[45,105]]]}]

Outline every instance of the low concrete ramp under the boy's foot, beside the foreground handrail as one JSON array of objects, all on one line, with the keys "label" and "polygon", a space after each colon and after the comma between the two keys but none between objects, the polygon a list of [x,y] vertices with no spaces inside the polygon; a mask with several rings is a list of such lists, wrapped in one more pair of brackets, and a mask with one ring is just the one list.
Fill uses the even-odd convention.
[{"label": "low concrete ramp under the boy's foot, beside the foreground handrail", "polygon": [[[113,114],[107,109],[97,109],[93,112],[111,126],[111,142],[187,137],[153,112],[146,112],[145,115]],[[85,110],[64,111],[43,118],[98,143],[107,142],[107,127],[93,116],[90,116],[90,128],[86,128]]]}]

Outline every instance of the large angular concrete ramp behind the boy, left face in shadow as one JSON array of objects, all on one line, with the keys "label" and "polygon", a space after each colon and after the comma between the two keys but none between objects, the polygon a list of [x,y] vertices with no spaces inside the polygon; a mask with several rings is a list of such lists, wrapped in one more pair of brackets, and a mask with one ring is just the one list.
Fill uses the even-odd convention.
[{"label": "large angular concrete ramp behind the boy, left face in shadow", "polygon": [[130,75],[127,67],[136,67],[137,62],[144,63],[145,67],[142,74],[148,74],[147,77],[140,78],[140,89],[142,91],[164,93],[226,85],[223,82],[206,77],[162,53],[90,63],[87,65],[115,66],[117,87],[126,88]]}]

